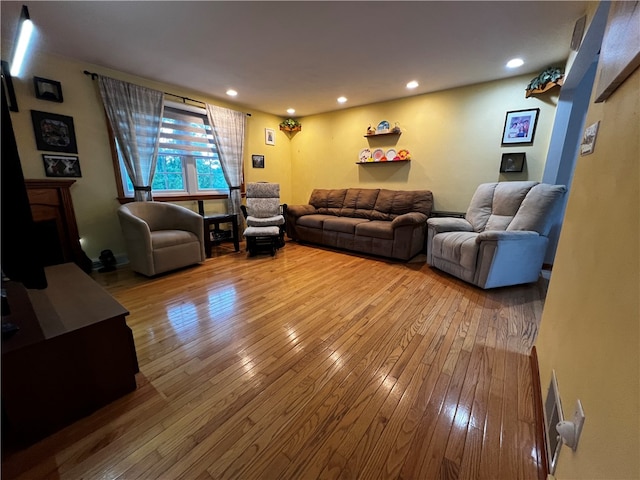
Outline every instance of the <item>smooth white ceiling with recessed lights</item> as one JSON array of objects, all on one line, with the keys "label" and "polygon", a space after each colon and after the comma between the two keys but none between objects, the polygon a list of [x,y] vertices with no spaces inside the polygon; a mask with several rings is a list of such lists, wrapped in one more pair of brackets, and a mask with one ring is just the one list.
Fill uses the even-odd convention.
[{"label": "smooth white ceiling with recessed lights", "polygon": [[[23,3],[39,50],[283,117],[290,107],[300,117],[524,73],[533,78],[564,65],[587,4],[2,1],[3,45],[13,43]],[[513,57],[525,65],[507,69]],[[420,86],[408,90],[410,80]],[[239,92],[233,100],[229,88]],[[339,96],[347,103],[338,104]]]}]

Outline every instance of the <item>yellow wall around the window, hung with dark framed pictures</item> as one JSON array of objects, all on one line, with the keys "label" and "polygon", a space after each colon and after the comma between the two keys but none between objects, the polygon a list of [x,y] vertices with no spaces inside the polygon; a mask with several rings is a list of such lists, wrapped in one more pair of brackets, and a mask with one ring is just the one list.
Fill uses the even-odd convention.
[{"label": "yellow wall around the window, hung with dark framed pictures", "polygon": [[[10,46],[2,45],[3,58],[8,58]],[[5,52],[6,50],[6,52]],[[120,206],[116,197],[116,183],[107,136],[106,119],[96,81],[84,70],[156,88],[165,92],[187,96],[207,103],[252,113],[247,119],[246,148],[244,152],[245,182],[267,180],[281,183],[283,200],[291,196],[290,146],[287,138],[277,138],[275,146],[267,146],[264,129],[278,130],[281,118],[254,112],[219,99],[148,79],[138,78],[68,58],[34,53],[27,62],[21,78],[14,78],[19,112],[11,112],[11,119],[20,153],[25,178],[46,178],[42,151],[38,151],[33,133],[30,110],[73,117],[78,157],[82,177],[71,187],[82,246],[87,255],[97,259],[100,251],[111,249],[116,255],[124,254],[124,241],[120,232],[116,210]],[[39,76],[61,82],[63,103],[35,98],[33,77]],[[170,100],[175,100],[168,97]],[[278,133],[281,133],[278,131]],[[54,153],[54,152],[48,152]],[[251,154],[265,155],[265,168],[253,169]],[[182,202],[197,210],[196,202]],[[226,201],[207,201],[207,212],[226,211]]]}]

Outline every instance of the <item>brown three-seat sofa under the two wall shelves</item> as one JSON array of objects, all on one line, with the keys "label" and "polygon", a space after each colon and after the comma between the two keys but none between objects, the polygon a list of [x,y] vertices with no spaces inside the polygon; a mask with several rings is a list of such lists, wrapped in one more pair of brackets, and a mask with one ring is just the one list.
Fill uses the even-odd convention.
[{"label": "brown three-seat sofa under the two wall shelves", "polygon": [[429,190],[315,189],[308,205],[287,206],[287,236],[409,260],[424,249],[432,208]]}]

